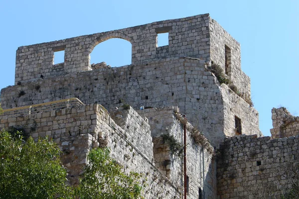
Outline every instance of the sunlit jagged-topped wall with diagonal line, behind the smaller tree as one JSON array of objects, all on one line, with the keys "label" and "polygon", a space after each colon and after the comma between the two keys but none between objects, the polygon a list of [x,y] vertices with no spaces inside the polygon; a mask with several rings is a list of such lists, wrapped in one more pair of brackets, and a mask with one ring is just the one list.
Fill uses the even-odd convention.
[{"label": "sunlit jagged-topped wall with diagonal line, behind the smaller tree", "polygon": [[127,110],[115,110],[113,117],[118,119],[114,122],[108,111],[100,106],[98,108],[102,110],[97,112],[99,137],[108,140],[111,156],[123,165],[126,171],[142,173],[144,178],[148,179],[144,197],[178,199],[179,185],[171,183],[154,166],[152,138],[147,119],[129,107]]}]

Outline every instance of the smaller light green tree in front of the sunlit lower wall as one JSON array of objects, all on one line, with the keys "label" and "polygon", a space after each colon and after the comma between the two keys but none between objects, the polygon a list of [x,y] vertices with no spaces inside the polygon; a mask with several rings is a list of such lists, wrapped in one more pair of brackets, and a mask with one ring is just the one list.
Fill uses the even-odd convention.
[{"label": "smaller light green tree in front of the sunlit lower wall", "polygon": [[110,156],[108,148],[97,148],[88,155],[83,178],[77,190],[81,199],[137,199],[143,186],[141,174],[126,175]]}]

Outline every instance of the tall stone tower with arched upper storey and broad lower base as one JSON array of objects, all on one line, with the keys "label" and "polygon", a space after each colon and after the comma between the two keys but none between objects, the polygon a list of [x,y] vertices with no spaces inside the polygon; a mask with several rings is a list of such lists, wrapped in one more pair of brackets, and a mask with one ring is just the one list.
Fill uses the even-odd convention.
[{"label": "tall stone tower with arched upper storey and broad lower base", "polygon": [[[157,47],[159,33],[168,33],[168,45]],[[93,68],[90,53],[110,38],[132,44],[132,64]],[[64,51],[63,63],[53,63],[57,51]],[[208,69],[211,61],[237,91],[220,84]],[[250,79],[241,70],[240,44],[209,14],[17,49],[15,85],[1,90],[4,109],[74,97],[107,109],[123,103],[179,106],[214,146],[236,133],[260,134],[258,112],[248,103]]]}]

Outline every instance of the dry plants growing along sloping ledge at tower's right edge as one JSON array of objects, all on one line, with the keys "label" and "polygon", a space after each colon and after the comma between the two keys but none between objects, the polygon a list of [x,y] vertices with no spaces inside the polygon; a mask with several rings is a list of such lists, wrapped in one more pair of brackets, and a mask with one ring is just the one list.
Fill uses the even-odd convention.
[{"label": "dry plants growing along sloping ledge at tower's right edge", "polygon": [[220,65],[212,61],[211,66],[208,67],[208,70],[216,76],[220,84],[226,84],[235,94],[237,94],[240,98],[245,100],[251,107],[254,105],[250,96],[239,91],[239,89],[234,85],[232,80],[228,78],[227,75],[225,75]]}]

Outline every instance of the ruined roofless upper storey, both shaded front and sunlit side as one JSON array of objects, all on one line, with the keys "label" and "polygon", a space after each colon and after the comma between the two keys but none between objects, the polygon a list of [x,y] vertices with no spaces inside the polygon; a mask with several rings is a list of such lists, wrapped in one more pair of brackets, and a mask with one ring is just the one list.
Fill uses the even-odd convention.
[{"label": "ruined roofless upper storey, both shaded front and sunlit side", "polygon": [[[168,33],[168,45],[158,47],[159,33]],[[16,51],[15,85],[90,71],[90,53],[96,45],[111,38],[125,39],[132,44],[132,65],[179,57],[214,61],[250,95],[250,79],[241,70],[240,44],[209,14],[21,46]],[[64,51],[63,63],[54,63],[57,51]]]}]

